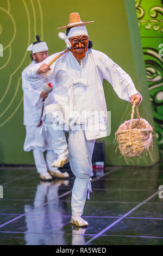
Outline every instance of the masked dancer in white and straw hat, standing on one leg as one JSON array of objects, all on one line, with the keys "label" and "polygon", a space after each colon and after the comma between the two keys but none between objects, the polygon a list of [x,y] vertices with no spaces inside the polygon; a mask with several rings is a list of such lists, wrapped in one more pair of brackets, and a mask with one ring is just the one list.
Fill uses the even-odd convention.
[{"label": "masked dancer in white and straw hat, standing on one leg", "polygon": [[[71,199],[71,223],[80,227],[88,225],[81,216],[87,190],[91,191],[91,157],[95,139],[107,136],[103,79],[111,84],[122,100],[131,103],[136,100],[137,105],[142,101],[130,76],[104,53],[90,48],[87,23],[91,22],[82,22],[78,13],[70,14],[68,25],[61,27],[67,28],[66,34],[59,33],[70,51],[51,68],[48,63],[58,53],[27,70],[27,80],[31,84],[44,81],[43,73],[49,70],[54,76],[55,104],[45,108],[42,121],[51,134],[53,149],[58,155],[53,166],[59,167],[68,161],[68,156],[70,158],[71,170],[76,176]],[[93,116],[95,113],[101,117],[99,126]],[[63,130],[69,132],[68,145]]]}]

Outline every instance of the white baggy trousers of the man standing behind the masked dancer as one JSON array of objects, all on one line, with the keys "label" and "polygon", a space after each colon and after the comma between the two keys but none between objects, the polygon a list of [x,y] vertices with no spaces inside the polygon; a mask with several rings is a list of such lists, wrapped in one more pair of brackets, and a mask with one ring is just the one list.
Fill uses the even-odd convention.
[{"label": "white baggy trousers of the man standing behind the masked dancer", "polygon": [[[45,130],[41,127],[26,126],[26,139],[24,142],[24,151],[33,151],[37,173],[44,173],[48,170],[55,172],[58,168],[52,167],[52,163],[57,159],[57,155],[52,148],[51,138],[47,136]],[[46,151],[46,159],[43,152]]]}]

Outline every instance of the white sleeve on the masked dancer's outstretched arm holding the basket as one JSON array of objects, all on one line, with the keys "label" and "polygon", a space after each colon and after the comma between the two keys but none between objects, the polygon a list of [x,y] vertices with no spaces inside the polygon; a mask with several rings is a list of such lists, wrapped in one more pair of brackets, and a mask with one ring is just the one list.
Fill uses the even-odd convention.
[{"label": "white sleeve on the masked dancer's outstretched arm holding the basket", "polygon": [[141,94],[136,90],[130,76],[105,54],[103,54],[102,63],[104,78],[111,84],[120,99],[131,102],[130,97],[132,95],[139,94],[141,96]]}]

